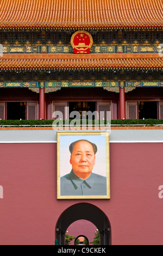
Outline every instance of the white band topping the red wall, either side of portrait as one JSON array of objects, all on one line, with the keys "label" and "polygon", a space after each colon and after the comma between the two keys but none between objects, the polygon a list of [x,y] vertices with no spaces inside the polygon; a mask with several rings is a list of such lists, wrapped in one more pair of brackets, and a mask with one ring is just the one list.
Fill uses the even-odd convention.
[{"label": "white band topping the red wall, either side of portrait", "polygon": [[[0,132],[0,144],[57,143],[54,130],[4,130]],[[163,143],[162,130],[112,130],[110,143]]]}]

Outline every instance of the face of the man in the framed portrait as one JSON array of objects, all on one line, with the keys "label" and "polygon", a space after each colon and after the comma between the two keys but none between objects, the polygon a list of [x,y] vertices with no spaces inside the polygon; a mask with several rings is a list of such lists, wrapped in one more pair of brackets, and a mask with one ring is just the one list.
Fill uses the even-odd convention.
[{"label": "face of the man in the framed portrait", "polygon": [[95,153],[89,142],[80,141],[74,145],[70,163],[73,172],[80,178],[86,179],[92,172],[95,165]]}]

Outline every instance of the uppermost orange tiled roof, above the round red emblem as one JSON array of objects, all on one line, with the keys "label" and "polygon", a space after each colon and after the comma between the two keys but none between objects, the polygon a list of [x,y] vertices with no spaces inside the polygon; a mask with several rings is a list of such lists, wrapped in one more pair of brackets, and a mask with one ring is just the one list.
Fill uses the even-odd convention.
[{"label": "uppermost orange tiled roof, above the round red emblem", "polygon": [[1,0],[1,28],[163,27],[162,0]]}]

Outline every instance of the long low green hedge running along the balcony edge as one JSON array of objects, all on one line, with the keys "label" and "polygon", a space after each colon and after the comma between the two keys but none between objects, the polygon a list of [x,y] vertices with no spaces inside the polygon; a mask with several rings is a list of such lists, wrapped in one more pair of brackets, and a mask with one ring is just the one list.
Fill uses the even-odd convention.
[{"label": "long low green hedge running along the balcony edge", "polygon": [[[74,120],[73,120],[74,121]],[[52,126],[54,120],[0,120],[0,127],[2,126]],[[70,124],[72,120],[65,120],[63,124]],[[72,124],[72,123],[71,123]],[[82,124],[82,120],[78,120],[77,124]],[[88,124],[88,120],[86,120]],[[91,123],[90,123],[91,124]],[[99,125],[99,120],[93,120],[93,125]],[[108,124],[108,120],[104,120],[104,124]],[[125,125],[163,125],[163,119],[117,119],[111,120],[112,126],[125,126]]]}]

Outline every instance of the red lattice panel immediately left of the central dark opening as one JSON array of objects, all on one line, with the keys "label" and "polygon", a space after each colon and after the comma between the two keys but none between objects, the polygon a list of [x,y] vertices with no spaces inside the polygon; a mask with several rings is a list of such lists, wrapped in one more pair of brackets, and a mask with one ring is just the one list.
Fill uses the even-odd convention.
[{"label": "red lattice panel immediately left of the central dark opening", "polygon": [[[68,119],[68,102],[67,101],[60,101],[60,102],[53,102],[53,119],[56,119],[56,118],[63,118],[63,119]],[[55,112],[56,111],[60,111],[62,114],[61,116],[55,116],[54,118],[54,115],[55,115]]]}]

